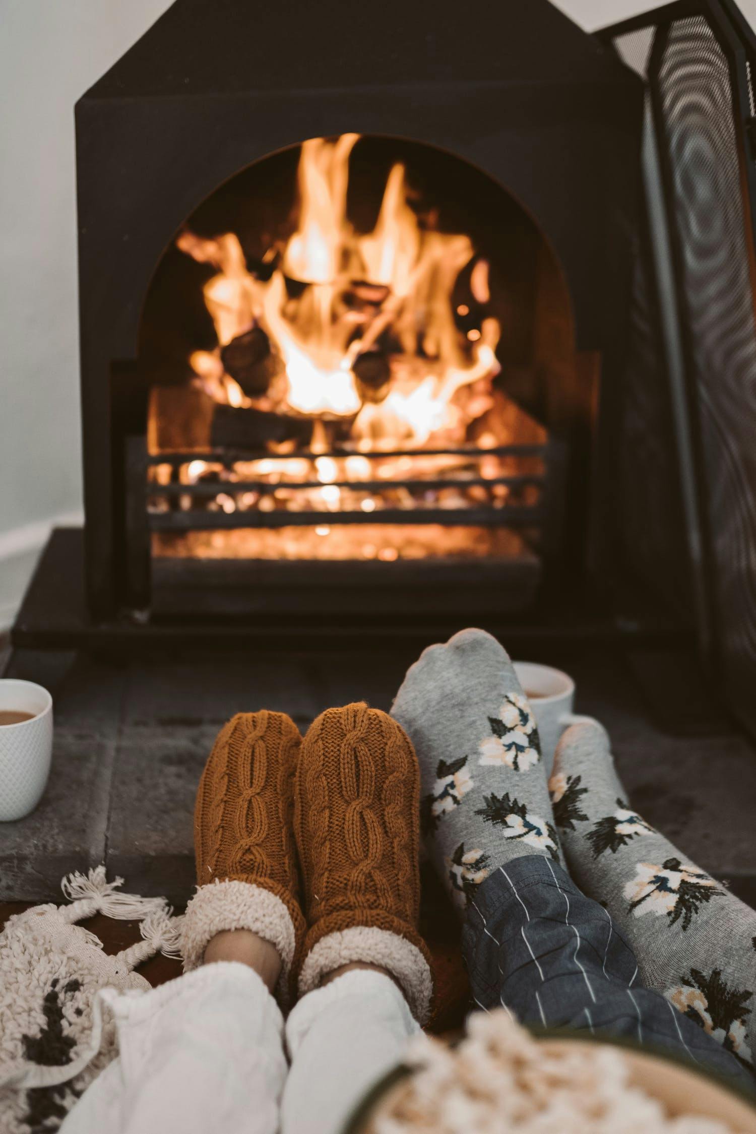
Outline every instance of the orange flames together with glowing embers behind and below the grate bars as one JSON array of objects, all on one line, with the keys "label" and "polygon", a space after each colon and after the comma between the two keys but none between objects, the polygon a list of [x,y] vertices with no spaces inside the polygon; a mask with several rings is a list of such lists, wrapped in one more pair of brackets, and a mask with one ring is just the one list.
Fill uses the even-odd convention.
[{"label": "orange flames together with glowing embers behind and below the grate bars", "polygon": [[[171,388],[153,398],[165,409],[153,413],[152,451],[197,454],[176,466],[173,481],[170,465],[151,474],[173,490],[155,493],[151,510],[198,514],[196,531],[155,535],[158,555],[392,562],[523,553],[508,528],[465,521],[481,508],[532,505],[538,489],[527,477],[543,473],[537,456],[487,451],[545,440],[494,387],[501,328],[489,263],[467,235],[440,230],[435,202],[414,205],[399,162],[372,230],[358,230],[347,209],[358,141],[304,143],[290,227],[271,238],[260,269],[250,270],[233,232],[185,229],[177,239],[215,269],[203,293],[218,346],[189,356],[194,416],[186,416],[198,422],[190,443]],[[171,429],[175,415],[181,424]],[[216,421],[229,417],[252,440],[219,440]],[[516,489],[511,475],[523,482]],[[381,522],[410,510],[418,523]],[[307,516],[300,526],[281,526],[278,516],[245,528],[247,514],[273,511]],[[447,524],[435,522],[441,511]],[[203,531],[207,513],[238,526]],[[360,523],[343,523],[345,514]]]}]

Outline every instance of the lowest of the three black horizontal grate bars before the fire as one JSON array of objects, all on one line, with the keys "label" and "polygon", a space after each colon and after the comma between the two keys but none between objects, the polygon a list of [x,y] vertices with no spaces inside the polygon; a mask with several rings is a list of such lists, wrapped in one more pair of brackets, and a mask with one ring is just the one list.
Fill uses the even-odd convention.
[{"label": "lowest of the three black horizontal grate bars before the fire", "polygon": [[211,531],[235,527],[313,527],[333,524],[441,524],[444,527],[535,527],[538,507],[383,508],[376,511],[165,511],[150,513],[153,532]]}]

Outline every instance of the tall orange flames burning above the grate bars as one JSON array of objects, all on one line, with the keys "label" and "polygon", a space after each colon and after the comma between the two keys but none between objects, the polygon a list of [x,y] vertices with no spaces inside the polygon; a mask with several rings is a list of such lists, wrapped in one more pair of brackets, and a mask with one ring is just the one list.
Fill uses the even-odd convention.
[{"label": "tall orange flames burning above the grate bars", "polygon": [[[482,316],[479,328],[464,333],[453,291],[469,266],[470,302],[484,310],[487,264],[467,236],[421,222],[400,163],[389,174],[373,231],[356,231],[347,193],[357,141],[343,134],[301,146],[296,227],[267,249],[267,278],[248,270],[233,232],[178,237],[182,252],[218,269],[204,298],[219,346],[195,352],[192,369],[220,403],[350,421],[350,437],[364,450],[461,443],[490,408],[485,387],[499,370],[500,328]],[[271,376],[263,389],[245,390],[228,372],[224,348],[253,330],[262,332]]]}]

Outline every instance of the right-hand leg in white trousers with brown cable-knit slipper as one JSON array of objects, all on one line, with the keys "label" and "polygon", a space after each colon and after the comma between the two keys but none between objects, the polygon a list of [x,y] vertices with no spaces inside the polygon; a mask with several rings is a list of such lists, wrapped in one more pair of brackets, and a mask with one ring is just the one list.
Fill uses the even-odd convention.
[{"label": "right-hand leg in white trousers with brown cable-knit slipper", "polygon": [[419,769],[385,713],[329,709],[305,737],[295,831],[307,936],[287,1023],[284,1134],[335,1134],[427,1018],[418,929]]}]

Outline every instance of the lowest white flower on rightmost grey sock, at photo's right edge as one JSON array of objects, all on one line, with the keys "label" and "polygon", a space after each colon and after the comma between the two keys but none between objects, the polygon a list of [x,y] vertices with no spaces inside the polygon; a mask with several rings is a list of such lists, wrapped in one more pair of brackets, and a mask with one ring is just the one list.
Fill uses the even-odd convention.
[{"label": "lowest white flower on rightmost grey sock, at photo's right edge", "polygon": [[713,968],[706,976],[691,968],[677,988],[668,989],[666,999],[676,1008],[708,1032],[722,1047],[732,1051],[744,1063],[751,1064],[753,1056],[746,1043],[746,1005],[753,998],[750,989],[731,988],[722,979],[722,970]]}]

